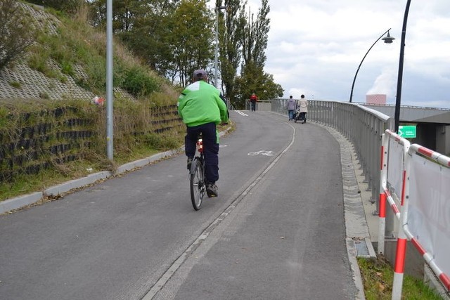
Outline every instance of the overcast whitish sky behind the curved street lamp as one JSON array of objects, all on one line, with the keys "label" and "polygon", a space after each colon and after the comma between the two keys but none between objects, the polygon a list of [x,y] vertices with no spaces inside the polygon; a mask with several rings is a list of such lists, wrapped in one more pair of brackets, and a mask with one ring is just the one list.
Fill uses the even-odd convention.
[{"label": "overcast whitish sky behind the curved street lamp", "polygon": [[[259,0],[249,0],[257,13]],[[353,102],[385,93],[394,104],[406,0],[269,0],[265,71],[284,96]],[[450,108],[450,1],[413,0],[406,28],[401,105]],[[262,95],[260,98],[264,98]]]}]

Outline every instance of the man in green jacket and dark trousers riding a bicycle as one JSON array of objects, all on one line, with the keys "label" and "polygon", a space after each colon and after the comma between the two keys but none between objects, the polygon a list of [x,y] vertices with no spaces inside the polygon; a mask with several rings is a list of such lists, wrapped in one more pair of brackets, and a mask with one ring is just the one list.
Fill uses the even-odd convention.
[{"label": "man in green jacket and dark trousers riding a bicycle", "polygon": [[228,122],[229,113],[221,93],[215,86],[207,83],[205,70],[193,72],[193,83],[186,86],[178,98],[178,112],[186,124],[184,149],[191,169],[195,155],[195,145],[202,133],[203,154],[208,197],[217,197],[219,180],[219,133],[217,125]]}]

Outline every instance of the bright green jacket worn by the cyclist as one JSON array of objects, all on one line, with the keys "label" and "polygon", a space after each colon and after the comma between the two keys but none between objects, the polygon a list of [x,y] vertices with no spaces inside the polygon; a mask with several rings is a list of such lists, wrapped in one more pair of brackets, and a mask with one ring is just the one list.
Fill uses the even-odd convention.
[{"label": "bright green jacket worn by the cyclist", "polygon": [[187,126],[228,122],[228,110],[219,90],[203,80],[195,81],[181,92],[178,112]]}]

